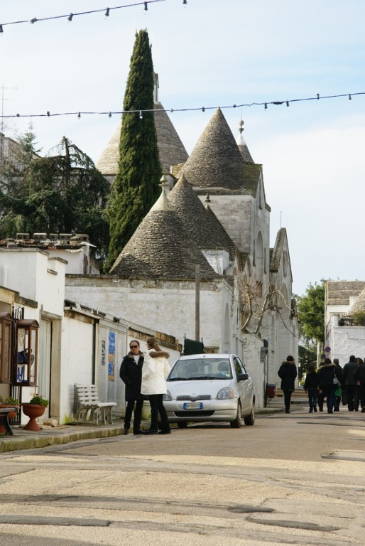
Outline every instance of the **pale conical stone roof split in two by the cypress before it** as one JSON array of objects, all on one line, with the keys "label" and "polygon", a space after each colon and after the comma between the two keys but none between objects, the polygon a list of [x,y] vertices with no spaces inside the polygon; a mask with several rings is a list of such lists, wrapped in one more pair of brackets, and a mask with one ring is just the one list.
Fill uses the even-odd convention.
[{"label": "pale conical stone roof split in two by the cypress before it", "polygon": [[[168,114],[164,111],[163,105],[160,102],[155,102],[154,109],[156,110],[155,127],[160,164],[163,173],[168,173],[171,165],[184,163],[187,160],[187,151]],[[121,122],[97,161],[97,168],[104,175],[115,176],[118,172],[120,135]]]}]

